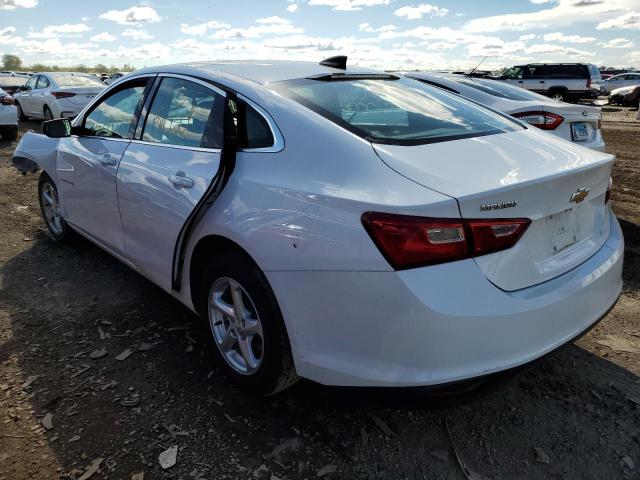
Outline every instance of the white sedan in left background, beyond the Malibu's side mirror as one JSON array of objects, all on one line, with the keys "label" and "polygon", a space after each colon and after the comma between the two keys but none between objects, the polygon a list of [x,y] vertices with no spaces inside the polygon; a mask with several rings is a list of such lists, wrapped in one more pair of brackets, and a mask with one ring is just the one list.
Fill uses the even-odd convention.
[{"label": "white sedan in left background, beyond the Malibu's side mirror", "polygon": [[73,118],[106,88],[88,73],[37,73],[13,95],[20,119]]}]

